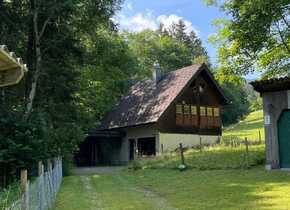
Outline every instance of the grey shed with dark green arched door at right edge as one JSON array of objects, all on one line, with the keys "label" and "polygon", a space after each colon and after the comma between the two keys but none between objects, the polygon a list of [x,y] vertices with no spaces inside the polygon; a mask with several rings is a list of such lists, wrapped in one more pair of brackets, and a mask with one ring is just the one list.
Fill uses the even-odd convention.
[{"label": "grey shed with dark green arched door at right edge", "polygon": [[266,169],[290,168],[290,77],[251,84],[263,97]]}]

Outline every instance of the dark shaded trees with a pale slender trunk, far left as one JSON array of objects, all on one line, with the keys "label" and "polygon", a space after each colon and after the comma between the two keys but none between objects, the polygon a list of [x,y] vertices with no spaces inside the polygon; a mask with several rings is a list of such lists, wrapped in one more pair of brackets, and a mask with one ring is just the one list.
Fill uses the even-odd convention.
[{"label": "dark shaded trees with a pale slender trunk, far left", "polygon": [[17,169],[77,149],[87,132],[78,109],[80,66],[92,49],[87,40],[98,28],[116,29],[110,18],[119,6],[119,0],[0,0],[0,42],[26,58],[29,68],[18,86],[1,90],[0,170],[3,163]]}]

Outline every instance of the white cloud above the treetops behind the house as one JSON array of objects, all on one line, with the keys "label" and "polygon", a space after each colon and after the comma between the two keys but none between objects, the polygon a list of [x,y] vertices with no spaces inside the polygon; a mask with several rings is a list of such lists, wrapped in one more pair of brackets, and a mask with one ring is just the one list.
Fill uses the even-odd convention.
[{"label": "white cloud above the treetops behind the house", "polygon": [[121,29],[134,32],[139,32],[144,29],[156,30],[160,23],[162,23],[165,28],[169,28],[173,23],[178,23],[179,20],[183,20],[186,26],[186,33],[194,31],[197,35],[200,34],[189,20],[186,20],[181,16],[171,14],[154,17],[153,11],[149,9],[146,9],[145,13],[140,12],[131,17],[120,14],[113,20],[120,25]]}]

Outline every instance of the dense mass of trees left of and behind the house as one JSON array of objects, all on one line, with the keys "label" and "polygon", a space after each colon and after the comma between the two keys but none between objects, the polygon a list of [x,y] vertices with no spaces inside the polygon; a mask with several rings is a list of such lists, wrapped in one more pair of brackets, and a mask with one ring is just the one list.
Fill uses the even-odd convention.
[{"label": "dense mass of trees left of and behind the house", "polygon": [[154,62],[171,71],[208,60],[182,21],[170,31],[120,33],[111,21],[120,6],[119,0],[0,0],[0,43],[29,68],[20,84],[1,89],[4,184],[39,160],[71,158],[130,85],[150,76]]}]

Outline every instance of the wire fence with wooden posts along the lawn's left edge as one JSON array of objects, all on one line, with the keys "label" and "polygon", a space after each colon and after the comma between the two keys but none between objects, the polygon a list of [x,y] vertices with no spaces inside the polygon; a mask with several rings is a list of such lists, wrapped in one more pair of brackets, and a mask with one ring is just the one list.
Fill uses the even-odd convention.
[{"label": "wire fence with wooden posts along the lawn's left edge", "polygon": [[56,194],[62,182],[62,160],[48,161],[44,171],[42,162],[38,164],[38,177],[27,180],[27,170],[21,171],[20,198],[5,210],[48,210],[54,206]]}]

